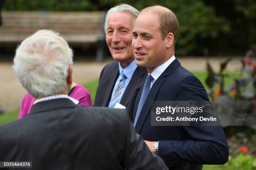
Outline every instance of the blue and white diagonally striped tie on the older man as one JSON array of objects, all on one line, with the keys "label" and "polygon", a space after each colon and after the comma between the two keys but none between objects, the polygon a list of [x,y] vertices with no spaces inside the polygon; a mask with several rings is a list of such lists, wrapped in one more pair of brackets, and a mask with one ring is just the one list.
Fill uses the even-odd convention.
[{"label": "blue and white diagonally striped tie on the older man", "polygon": [[111,98],[111,101],[110,101],[110,106],[109,107],[111,107],[111,108],[115,107],[115,104],[117,102],[120,102],[120,100],[121,100],[121,93],[123,91],[123,87],[125,85],[125,79],[127,77],[125,76],[123,71],[120,73],[120,75],[121,75],[121,79],[120,79],[120,81],[118,83],[118,86],[115,90],[115,94],[113,95],[113,98]]}]

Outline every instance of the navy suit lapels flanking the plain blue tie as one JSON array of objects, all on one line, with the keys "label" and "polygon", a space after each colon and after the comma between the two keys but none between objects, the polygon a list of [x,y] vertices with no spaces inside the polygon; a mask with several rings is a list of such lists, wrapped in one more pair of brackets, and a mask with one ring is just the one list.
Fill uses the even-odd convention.
[{"label": "navy suit lapels flanking the plain blue tie", "polygon": [[[144,105],[141,109],[140,116],[138,117],[138,121],[135,126],[135,130],[137,133],[141,132],[141,129],[143,127],[143,124],[148,116],[150,114],[151,110],[151,105],[154,103],[156,100],[156,96],[160,90],[161,85],[164,83],[166,80],[166,76],[170,75],[173,70],[175,70],[178,66],[180,65],[180,62],[175,59],[167,68],[164,70],[164,72],[158,77],[158,79],[154,82],[153,86],[151,87],[148,97],[146,98],[146,101],[144,102]],[[142,90],[140,91],[140,96],[141,96]],[[138,100],[139,102],[139,100]],[[138,108],[138,102],[136,103],[136,108]],[[136,112],[136,111],[134,111]],[[135,117],[135,116],[133,116]]]}]

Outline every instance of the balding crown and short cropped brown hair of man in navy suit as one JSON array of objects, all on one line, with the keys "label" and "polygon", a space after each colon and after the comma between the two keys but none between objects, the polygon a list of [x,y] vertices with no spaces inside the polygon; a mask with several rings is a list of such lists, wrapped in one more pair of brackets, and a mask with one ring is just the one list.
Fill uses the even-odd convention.
[{"label": "balding crown and short cropped brown hair of man in navy suit", "polygon": [[179,31],[179,22],[172,10],[169,10],[168,8],[160,5],[155,5],[144,8],[141,11],[141,15],[145,13],[153,13],[158,15],[162,39],[164,39],[166,35],[169,34],[169,32],[172,32],[174,35],[175,45],[175,42],[177,40],[177,34]]}]

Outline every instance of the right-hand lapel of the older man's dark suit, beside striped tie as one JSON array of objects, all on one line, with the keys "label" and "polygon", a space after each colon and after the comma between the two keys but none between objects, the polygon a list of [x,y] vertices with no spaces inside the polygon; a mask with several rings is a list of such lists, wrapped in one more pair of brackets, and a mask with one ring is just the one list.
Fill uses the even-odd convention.
[{"label": "right-hand lapel of the older man's dark suit, beside striped tie", "polygon": [[137,67],[136,70],[133,72],[133,76],[131,77],[131,80],[128,84],[128,86],[125,89],[125,92],[123,93],[123,96],[120,100],[120,104],[127,107],[129,103],[129,99],[131,98],[131,95],[133,95],[132,92],[137,91],[140,88],[140,83],[143,80],[143,75],[146,74],[146,69],[142,67]]}]

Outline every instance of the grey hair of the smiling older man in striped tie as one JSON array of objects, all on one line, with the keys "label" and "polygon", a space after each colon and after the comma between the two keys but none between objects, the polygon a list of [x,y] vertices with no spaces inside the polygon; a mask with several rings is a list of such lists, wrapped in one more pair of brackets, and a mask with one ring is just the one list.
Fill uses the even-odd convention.
[{"label": "grey hair of the smiling older man in striped tie", "polygon": [[111,13],[117,13],[117,12],[127,12],[130,13],[131,15],[134,16],[134,21],[135,19],[138,17],[138,15],[140,14],[140,12],[133,6],[128,5],[128,4],[118,4],[112,8],[110,8],[110,10],[108,10],[106,17],[105,17],[105,23],[104,23],[104,31],[105,33],[107,32],[107,22],[108,22],[108,16]]}]

